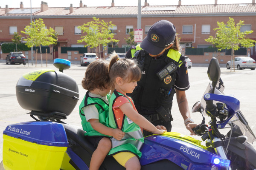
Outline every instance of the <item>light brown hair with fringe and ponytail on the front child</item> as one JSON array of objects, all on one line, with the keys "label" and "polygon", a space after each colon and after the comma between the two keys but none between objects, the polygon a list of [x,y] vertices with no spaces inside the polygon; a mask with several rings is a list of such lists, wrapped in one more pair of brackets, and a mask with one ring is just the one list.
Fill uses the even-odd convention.
[{"label": "light brown hair with fringe and ponytail on the front child", "polygon": [[141,77],[140,68],[132,59],[121,59],[115,51],[110,55],[109,77],[111,93],[114,90],[116,77],[121,77],[125,82],[139,81]]}]

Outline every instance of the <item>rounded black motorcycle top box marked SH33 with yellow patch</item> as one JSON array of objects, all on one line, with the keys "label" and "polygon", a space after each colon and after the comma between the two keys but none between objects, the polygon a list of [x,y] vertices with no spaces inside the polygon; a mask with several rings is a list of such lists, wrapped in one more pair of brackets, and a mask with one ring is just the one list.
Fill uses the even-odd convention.
[{"label": "rounded black motorcycle top box marked SH33 with yellow patch", "polygon": [[75,79],[60,71],[42,69],[23,74],[16,85],[20,106],[41,116],[66,119],[79,100]]}]

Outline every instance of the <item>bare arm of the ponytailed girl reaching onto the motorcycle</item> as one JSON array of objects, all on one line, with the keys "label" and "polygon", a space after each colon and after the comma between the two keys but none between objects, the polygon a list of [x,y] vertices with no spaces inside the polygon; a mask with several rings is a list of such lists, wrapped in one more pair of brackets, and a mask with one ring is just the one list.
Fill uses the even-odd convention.
[{"label": "bare arm of the ponytailed girl reaching onto the motorcycle", "polygon": [[130,103],[125,103],[121,105],[119,108],[126,116],[129,117],[129,119],[131,119],[134,123],[136,123],[143,129],[155,134],[163,134],[164,132],[166,132],[165,127],[155,127],[145,117],[137,113]]}]

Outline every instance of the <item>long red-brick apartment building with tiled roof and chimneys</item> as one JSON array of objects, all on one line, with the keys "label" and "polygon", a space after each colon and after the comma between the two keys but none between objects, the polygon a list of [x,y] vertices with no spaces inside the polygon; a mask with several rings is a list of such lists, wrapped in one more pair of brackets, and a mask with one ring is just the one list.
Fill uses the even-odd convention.
[{"label": "long red-brick apartment building with tiled roof and chimneys", "polygon": [[[252,3],[241,4],[218,4],[218,0],[212,5],[182,5],[182,0],[179,0],[178,5],[171,3],[172,1],[168,6],[150,6],[145,0],[144,6],[141,6],[143,38],[156,21],[169,20],[176,27],[183,49],[206,48],[212,46],[205,39],[215,35],[213,28],[217,27],[217,21],[226,23],[229,17],[232,17],[236,23],[243,20],[244,26],[241,27],[241,31],[253,30],[254,32],[247,37],[256,40],[255,0],[252,0]],[[110,1],[110,6],[87,7],[81,0],[80,3],[78,1],[77,7],[74,6],[70,4],[66,8],[51,8],[47,2],[42,2],[41,7],[32,8],[32,20],[42,18],[47,28],[55,29],[58,33],[59,47],[83,47],[85,44],[79,44],[77,40],[85,34],[78,29],[78,26],[92,21],[93,17],[105,22],[111,21],[116,25],[111,32],[119,42],[110,43],[109,47],[126,46],[124,38],[137,28],[137,6],[115,6],[114,0],[112,3]],[[20,33],[29,25],[30,8],[23,8],[22,2],[20,8],[9,8],[6,5],[5,8],[0,8],[0,23],[1,45],[11,42],[14,32]]]}]

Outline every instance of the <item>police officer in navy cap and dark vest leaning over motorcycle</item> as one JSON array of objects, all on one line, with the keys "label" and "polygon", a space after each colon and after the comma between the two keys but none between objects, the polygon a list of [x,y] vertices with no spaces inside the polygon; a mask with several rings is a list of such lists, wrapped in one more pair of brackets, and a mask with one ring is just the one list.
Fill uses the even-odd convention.
[{"label": "police officer in navy cap and dark vest leaning over motorcycle", "polygon": [[[190,118],[185,93],[189,89],[187,65],[179,51],[175,26],[167,20],[154,23],[141,44],[132,45],[126,54],[126,58],[137,60],[142,74],[130,96],[141,115],[171,131],[172,100],[176,93],[184,125],[194,135],[192,128],[196,124]],[[149,134],[144,131],[145,136]]]}]

